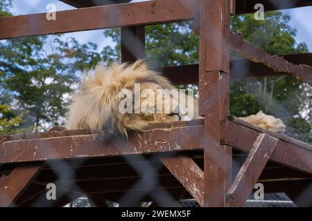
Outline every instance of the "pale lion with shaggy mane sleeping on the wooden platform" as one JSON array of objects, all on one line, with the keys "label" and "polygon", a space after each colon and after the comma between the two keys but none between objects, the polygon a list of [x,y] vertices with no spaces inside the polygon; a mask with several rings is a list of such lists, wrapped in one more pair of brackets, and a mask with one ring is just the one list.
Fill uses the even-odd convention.
[{"label": "pale lion with shaggy mane sleeping on the wooden platform", "polygon": [[[153,70],[149,70],[144,61],[135,64],[98,64],[94,70],[83,75],[77,93],[73,95],[69,112],[67,113],[67,128],[87,128],[93,133],[102,133],[105,137],[121,134],[128,136],[128,131],[142,131],[150,122],[173,122],[202,118],[198,115],[198,101],[193,96],[186,95],[185,99],[177,100],[172,94],[164,93],[161,105],[157,104],[157,96],[143,96],[125,102],[128,113],[121,111],[121,90],[135,94],[135,84],[139,84],[139,93],[146,89],[157,95],[159,89],[172,90],[175,87],[168,79]],[[145,93],[146,94],[146,93]],[[180,91],[178,95],[184,95]],[[190,104],[191,101],[191,104]],[[137,102],[147,104],[145,111],[139,110]],[[132,105],[133,104],[133,105]],[[164,111],[165,108],[170,111]],[[179,109],[177,111],[177,109]],[[192,111],[191,118],[188,110]],[[281,119],[264,114],[241,117],[241,119],[279,133],[284,133],[286,126]]]}]

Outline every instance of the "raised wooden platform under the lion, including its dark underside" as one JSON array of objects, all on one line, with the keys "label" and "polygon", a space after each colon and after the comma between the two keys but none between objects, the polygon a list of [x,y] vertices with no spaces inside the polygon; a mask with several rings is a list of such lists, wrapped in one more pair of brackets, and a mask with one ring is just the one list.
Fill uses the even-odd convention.
[{"label": "raised wooden platform under the lion, including its dark underside", "polygon": [[[236,118],[227,122],[227,128],[225,144],[237,149],[232,154],[232,177],[238,173],[247,157],[245,153],[250,151],[257,137],[266,133],[278,139],[270,162],[259,177],[259,182],[266,186],[266,193],[288,193],[295,186],[311,184],[311,145]],[[175,202],[192,196],[159,157],[186,155],[203,169],[202,135],[203,120],[200,119],[153,124],[144,133],[130,135],[128,141],[116,139],[105,142],[99,135],[85,130],[2,136],[0,173],[9,175],[20,163],[32,165],[34,162],[46,162],[15,202],[19,206],[61,206],[82,195],[96,199],[98,206],[103,206],[105,200],[119,202],[123,195],[131,192],[141,194],[139,200],[142,201],[153,201],[154,194],[165,192]],[[162,153],[164,151],[166,153]],[[146,170],[138,171],[138,168]],[[142,177],[148,177],[151,182],[133,188]],[[58,186],[59,200],[46,200],[45,187],[50,182]]]}]

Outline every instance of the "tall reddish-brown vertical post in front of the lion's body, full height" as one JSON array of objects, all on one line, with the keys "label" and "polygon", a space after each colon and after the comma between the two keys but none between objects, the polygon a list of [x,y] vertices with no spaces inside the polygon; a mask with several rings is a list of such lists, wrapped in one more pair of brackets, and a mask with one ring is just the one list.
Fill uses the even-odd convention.
[{"label": "tall reddish-brown vertical post in front of the lion's body, full height", "polygon": [[[222,145],[229,115],[229,0],[201,0],[200,115],[205,115],[205,206],[225,206],[232,148]],[[221,133],[222,131],[222,133]]]}]

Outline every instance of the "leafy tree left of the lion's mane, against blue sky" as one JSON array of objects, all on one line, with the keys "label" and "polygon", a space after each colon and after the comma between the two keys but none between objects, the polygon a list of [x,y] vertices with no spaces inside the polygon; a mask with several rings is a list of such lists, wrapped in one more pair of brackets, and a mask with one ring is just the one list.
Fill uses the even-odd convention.
[{"label": "leafy tree left of the lion's mane, against blue sky", "polygon": [[[0,15],[10,15],[9,8],[10,1],[1,1]],[[73,38],[62,41],[61,35],[1,41],[0,101],[21,113],[22,131],[42,131],[64,123],[78,73],[107,59],[96,48],[96,44],[79,44]],[[8,130],[3,133],[10,132],[10,126],[4,128]]]}]

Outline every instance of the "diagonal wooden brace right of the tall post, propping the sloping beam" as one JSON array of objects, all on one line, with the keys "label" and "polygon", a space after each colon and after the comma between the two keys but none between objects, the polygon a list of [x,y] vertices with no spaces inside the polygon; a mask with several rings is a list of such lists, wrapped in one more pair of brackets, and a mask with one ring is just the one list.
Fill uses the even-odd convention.
[{"label": "diagonal wooden brace right of the tall post, propping the sloping beam", "polygon": [[270,159],[278,139],[270,135],[260,134],[252,145],[250,153],[236,175],[229,191],[227,191],[227,206],[243,207],[254,184]]}]

